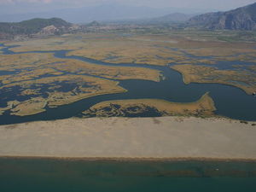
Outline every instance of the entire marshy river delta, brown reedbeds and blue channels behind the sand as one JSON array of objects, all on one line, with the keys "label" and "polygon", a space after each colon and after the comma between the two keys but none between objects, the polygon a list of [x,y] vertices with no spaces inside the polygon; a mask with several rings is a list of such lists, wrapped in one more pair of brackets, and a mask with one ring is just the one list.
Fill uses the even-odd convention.
[{"label": "entire marshy river delta, brown reedbeds and blue channels behind the sand", "polygon": [[[1,124],[108,115],[256,120],[255,43],[88,33],[0,45]],[[109,108],[117,103],[122,112]]]}]

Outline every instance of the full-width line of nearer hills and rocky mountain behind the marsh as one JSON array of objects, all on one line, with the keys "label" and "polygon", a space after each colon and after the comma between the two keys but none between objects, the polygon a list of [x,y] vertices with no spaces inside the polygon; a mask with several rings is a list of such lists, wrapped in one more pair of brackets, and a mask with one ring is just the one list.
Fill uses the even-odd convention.
[{"label": "full-width line of nearer hills and rocky mountain behind the marsh", "polygon": [[[137,10],[134,10],[135,12]],[[128,11],[130,14],[131,12]],[[128,13],[127,12],[127,13]],[[148,13],[147,11],[144,12]],[[106,13],[107,14],[107,13]],[[113,18],[116,18],[117,12],[113,10]],[[66,15],[68,17],[68,15]],[[108,17],[109,18],[109,17]],[[189,19],[190,18],[190,19]],[[81,20],[88,20],[81,16]],[[153,17],[148,19],[133,19],[122,21],[121,24],[128,24],[126,27],[135,25],[172,25],[173,23],[186,23],[185,27],[198,27],[201,29],[210,30],[256,30],[256,3],[241,7],[238,9],[215,12],[203,15],[196,15],[191,18],[191,15],[184,14],[169,14],[160,17]],[[118,24],[118,23],[117,23]],[[0,38],[1,39],[14,39],[19,36],[29,38],[30,36],[44,36],[44,35],[57,35],[70,32],[87,32],[89,28],[99,28],[102,24],[93,21],[87,25],[76,25],[59,18],[51,19],[32,19],[20,22],[0,22]],[[114,29],[108,22],[102,26],[104,29]]]}]

